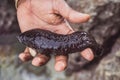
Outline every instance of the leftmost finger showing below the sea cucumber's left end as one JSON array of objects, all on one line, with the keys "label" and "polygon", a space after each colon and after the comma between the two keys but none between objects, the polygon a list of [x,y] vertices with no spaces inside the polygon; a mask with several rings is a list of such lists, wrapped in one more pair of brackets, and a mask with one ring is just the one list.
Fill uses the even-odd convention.
[{"label": "leftmost finger showing below the sea cucumber's left end", "polygon": [[26,48],[25,51],[19,55],[19,58],[20,58],[22,61],[29,61],[29,60],[31,60],[33,57],[30,55],[29,49]]}]

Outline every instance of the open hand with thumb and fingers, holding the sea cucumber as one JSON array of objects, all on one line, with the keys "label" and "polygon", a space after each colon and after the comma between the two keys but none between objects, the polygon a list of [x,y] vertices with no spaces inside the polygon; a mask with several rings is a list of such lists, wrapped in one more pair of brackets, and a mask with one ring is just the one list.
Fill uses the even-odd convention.
[{"label": "open hand with thumb and fingers, holding the sea cucumber", "polygon": [[[17,17],[22,32],[40,28],[59,34],[74,32],[67,20],[73,23],[82,23],[90,18],[88,14],[71,9],[64,0],[20,0]],[[83,50],[81,55],[89,61],[94,58],[90,48]],[[23,61],[32,60],[34,66],[42,66],[50,59],[43,54],[37,54],[33,58],[28,48],[19,55],[19,58]],[[68,56],[55,56],[55,70],[63,71],[67,67],[67,60]]]}]

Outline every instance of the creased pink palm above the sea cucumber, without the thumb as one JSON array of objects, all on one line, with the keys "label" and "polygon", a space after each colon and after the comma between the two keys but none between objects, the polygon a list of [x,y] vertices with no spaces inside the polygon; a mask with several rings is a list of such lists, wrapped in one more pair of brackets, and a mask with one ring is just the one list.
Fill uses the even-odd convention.
[{"label": "creased pink palm above the sea cucumber, without the thumb", "polygon": [[[48,5],[43,5],[41,1]],[[34,28],[46,29],[60,34],[67,34],[70,31],[73,32],[63,17],[54,10],[55,5],[53,1],[31,0],[31,2],[25,4],[29,5],[18,8],[18,20],[22,32]],[[21,12],[23,10],[24,13]],[[24,17],[22,17],[23,15]]]}]

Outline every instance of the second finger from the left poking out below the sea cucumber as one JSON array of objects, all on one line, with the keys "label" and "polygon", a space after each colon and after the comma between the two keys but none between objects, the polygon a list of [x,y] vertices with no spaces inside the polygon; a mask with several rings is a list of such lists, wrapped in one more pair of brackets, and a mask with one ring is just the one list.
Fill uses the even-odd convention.
[{"label": "second finger from the left poking out below the sea cucumber", "polygon": [[38,54],[33,60],[32,60],[32,65],[34,66],[42,66],[46,64],[50,59],[50,56],[46,56],[43,54]]}]

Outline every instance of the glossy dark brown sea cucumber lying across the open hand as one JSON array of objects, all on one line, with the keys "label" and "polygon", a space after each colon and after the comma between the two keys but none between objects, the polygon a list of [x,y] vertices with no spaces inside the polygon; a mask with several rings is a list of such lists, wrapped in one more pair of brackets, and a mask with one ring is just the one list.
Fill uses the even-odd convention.
[{"label": "glossy dark brown sea cucumber lying across the open hand", "polygon": [[32,29],[21,33],[18,40],[43,54],[67,55],[91,48],[95,55],[100,55],[102,50],[94,37],[85,31],[63,35],[48,30]]}]

